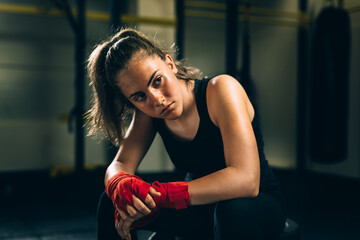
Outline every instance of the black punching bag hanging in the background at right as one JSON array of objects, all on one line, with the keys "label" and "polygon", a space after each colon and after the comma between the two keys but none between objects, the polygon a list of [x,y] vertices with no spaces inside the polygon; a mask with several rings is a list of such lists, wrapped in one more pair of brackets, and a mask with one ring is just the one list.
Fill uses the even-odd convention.
[{"label": "black punching bag hanging in the background at right", "polygon": [[350,18],[324,8],[315,23],[311,62],[310,155],[335,163],[347,154]]}]

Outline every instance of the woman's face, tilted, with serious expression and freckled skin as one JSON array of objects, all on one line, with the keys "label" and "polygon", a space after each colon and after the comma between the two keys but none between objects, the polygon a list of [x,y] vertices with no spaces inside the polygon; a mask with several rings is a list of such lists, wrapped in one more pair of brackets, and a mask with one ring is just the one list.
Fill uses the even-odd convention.
[{"label": "woman's face, tilted, with serious expression and freckled skin", "polygon": [[155,118],[175,120],[183,112],[182,86],[174,61],[158,56],[135,54],[127,68],[117,75],[117,86],[143,113]]}]

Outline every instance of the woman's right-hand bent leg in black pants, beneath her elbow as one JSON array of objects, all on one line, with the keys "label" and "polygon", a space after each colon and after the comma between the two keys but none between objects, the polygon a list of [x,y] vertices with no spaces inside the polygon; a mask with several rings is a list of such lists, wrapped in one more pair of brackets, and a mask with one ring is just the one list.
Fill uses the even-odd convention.
[{"label": "woman's right-hand bent leg in black pants, beneath her elbow", "polygon": [[216,239],[273,239],[285,223],[281,201],[266,193],[219,202],[214,217]]}]

